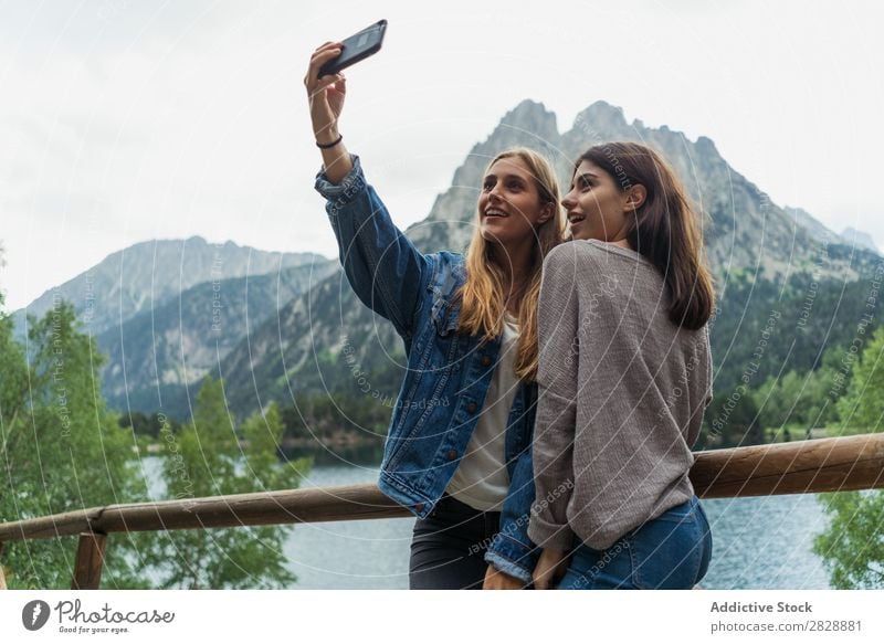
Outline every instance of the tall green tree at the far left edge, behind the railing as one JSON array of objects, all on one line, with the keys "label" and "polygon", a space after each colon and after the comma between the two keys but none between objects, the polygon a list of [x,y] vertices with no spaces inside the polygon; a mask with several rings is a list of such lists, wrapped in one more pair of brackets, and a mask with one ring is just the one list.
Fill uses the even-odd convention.
[{"label": "tall green tree at the far left edge, behind the railing", "polygon": [[[131,433],[101,397],[102,361],[64,302],[29,319],[27,351],[13,338],[12,320],[0,314],[0,520],[145,497],[130,458]],[[146,587],[134,547],[126,536],[109,539],[105,587]],[[7,580],[20,589],[70,588],[75,552],[75,537],[7,543]]]}]

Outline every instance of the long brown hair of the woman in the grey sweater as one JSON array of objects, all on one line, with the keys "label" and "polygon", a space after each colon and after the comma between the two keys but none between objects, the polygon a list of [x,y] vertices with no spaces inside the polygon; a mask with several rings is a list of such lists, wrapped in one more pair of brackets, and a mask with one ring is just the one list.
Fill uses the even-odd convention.
[{"label": "long brown hair of the woman in the grey sweater", "polygon": [[608,142],[589,148],[577,167],[589,161],[611,176],[621,192],[641,184],[648,194],[627,224],[627,241],[663,275],[672,297],[670,319],[699,329],[712,317],[715,291],[703,260],[698,211],[670,165],[635,142]]}]

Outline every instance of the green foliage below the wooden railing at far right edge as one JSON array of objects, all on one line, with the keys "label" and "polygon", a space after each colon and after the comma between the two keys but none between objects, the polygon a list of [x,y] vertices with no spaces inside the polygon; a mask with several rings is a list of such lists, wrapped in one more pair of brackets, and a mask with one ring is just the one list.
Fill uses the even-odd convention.
[{"label": "green foliage below the wooden railing at far right edge", "polygon": [[813,541],[838,589],[884,588],[884,493],[839,492],[820,495],[831,517]]}]

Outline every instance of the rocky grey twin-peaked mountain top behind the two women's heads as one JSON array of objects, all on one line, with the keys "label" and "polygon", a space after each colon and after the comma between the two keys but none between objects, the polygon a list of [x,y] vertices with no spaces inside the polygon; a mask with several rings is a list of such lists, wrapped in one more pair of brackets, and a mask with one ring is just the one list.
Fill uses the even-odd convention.
[{"label": "rocky grey twin-peaked mountain top behind the two women's heads", "polygon": [[[755,183],[734,170],[707,137],[691,141],[669,127],[645,127],[641,120],[628,123],[623,110],[599,101],[581,112],[571,128],[558,134],[556,116],[543,104],[525,101],[504,116],[501,125],[476,145],[455,171],[452,187],[440,194],[430,215],[409,229],[410,236],[429,252],[441,243],[461,250],[470,239],[470,222],[478,196],[480,178],[487,161],[507,147],[525,145],[554,160],[560,186],[570,182],[573,160],[591,145],[607,140],[630,140],[650,145],[663,152],[682,178],[691,197],[707,219],[706,242],[713,270],[724,275],[729,270],[761,271],[768,277],[782,275],[813,263],[813,249],[820,231],[828,230],[804,211],[797,218],[776,205]],[[367,172],[370,161],[367,160]],[[800,210],[800,209],[799,209]],[[844,244],[834,235],[836,243]],[[873,257],[857,257],[867,265]],[[854,277],[850,262],[840,270]]]}]

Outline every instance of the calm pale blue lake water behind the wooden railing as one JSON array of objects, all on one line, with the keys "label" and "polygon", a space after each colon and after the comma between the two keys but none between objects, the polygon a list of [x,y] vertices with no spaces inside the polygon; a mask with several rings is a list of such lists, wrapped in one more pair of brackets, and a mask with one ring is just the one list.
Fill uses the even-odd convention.
[{"label": "calm pale blue lake water behind the wooden railing", "polygon": [[[159,458],[144,460],[159,498]],[[314,466],[302,487],[373,483],[377,466]],[[825,527],[815,495],[703,502],[713,527],[714,551],[706,589],[827,589],[828,574],[811,551]],[[406,589],[414,519],[302,524],[284,546],[302,589]]]}]

